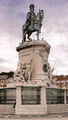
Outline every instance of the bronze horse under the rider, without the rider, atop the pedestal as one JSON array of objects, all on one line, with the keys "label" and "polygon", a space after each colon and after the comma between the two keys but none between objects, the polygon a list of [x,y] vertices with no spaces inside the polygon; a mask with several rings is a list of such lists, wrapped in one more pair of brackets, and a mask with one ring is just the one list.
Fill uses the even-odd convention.
[{"label": "bronze horse under the rider, without the rider, atop the pedestal", "polygon": [[37,40],[39,40],[39,34],[41,33],[41,26],[42,26],[43,17],[44,17],[44,12],[43,12],[43,10],[39,9],[39,12],[36,15],[34,24],[31,24],[28,27],[28,29],[24,29],[23,42],[26,40],[26,34],[28,35],[27,38],[31,41],[32,39],[30,38],[30,36],[33,32],[37,32]]}]

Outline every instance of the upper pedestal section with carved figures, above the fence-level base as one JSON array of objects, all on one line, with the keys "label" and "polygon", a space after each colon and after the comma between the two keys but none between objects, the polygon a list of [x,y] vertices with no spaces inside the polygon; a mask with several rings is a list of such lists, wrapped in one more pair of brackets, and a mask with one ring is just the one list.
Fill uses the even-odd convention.
[{"label": "upper pedestal section with carved figures, above the fence-level base", "polygon": [[50,51],[50,45],[46,41],[34,40],[26,42],[18,46],[16,50],[19,52],[19,62],[15,82],[22,82],[24,85],[25,82],[30,81],[30,83],[41,85],[42,81],[48,79],[47,71],[43,70],[45,65],[46,69],[48,69],[48,55]]}]

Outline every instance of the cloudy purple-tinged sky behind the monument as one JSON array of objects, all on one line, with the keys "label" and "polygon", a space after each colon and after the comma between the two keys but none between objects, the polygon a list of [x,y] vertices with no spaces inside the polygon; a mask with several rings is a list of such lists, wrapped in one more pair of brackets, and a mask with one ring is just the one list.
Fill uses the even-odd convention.
[{"label": "cloudy purple-tinged sky behind the monument", "polygon": [[[0,0],[0,72],[15,71],[18,63],[16,47],[22,41],[22,26],[29,5],[35,13],[44,10],[40,39],[50,45],[49,62],[54,74],[68,74],[68,0]],[[36,39],[36,35],[31,36]]]}]

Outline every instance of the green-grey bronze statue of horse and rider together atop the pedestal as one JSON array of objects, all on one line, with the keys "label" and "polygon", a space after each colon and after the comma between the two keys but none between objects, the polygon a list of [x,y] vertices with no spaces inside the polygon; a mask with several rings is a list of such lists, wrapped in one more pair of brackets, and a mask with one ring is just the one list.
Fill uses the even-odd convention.
[{"label": "green-grey bronze statue of horse and rider together atop the pedestal", "polygon": [[26,22],[22,27],[23,40],[22,43],[26,42],[26,35],[29,41],[33,32],[37,32],[37,40],[39,40],[39,34],[41,33],[42,20],[44,17],[43,10],[39,9],[38,14],[34,13],[34,4],[30,4],[30,12],[27,13]]}]

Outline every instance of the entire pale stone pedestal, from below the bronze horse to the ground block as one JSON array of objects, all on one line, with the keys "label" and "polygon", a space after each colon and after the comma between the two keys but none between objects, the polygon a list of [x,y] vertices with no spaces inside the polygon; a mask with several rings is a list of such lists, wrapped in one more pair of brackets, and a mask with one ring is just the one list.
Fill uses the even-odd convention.
[{"label": "entire pale stone pedestal, from below the bronze horse to the ground block", "polygon": [[[16,114],[46,114],[46,81],[50,45],[46,41],[31,41],[19,45],[19,62],[14,74]],[[22,87],[40,87],[39,104],[22,104]]]}]

